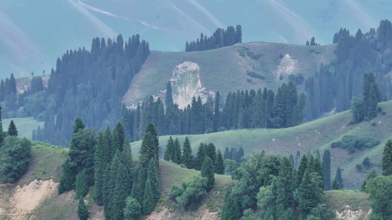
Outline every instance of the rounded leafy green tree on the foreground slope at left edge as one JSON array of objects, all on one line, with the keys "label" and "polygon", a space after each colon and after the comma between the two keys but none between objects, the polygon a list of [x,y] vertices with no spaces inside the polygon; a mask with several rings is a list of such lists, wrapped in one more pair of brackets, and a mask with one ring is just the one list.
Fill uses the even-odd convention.
[{"label": "rounded leafy green tree on the foreground slope at left edge", "polygon": [[[0,122],[1,123],[1,122]],[[5,182],[14,183],[29,168],[31,142],[15,136],[5,137],[0,148],[0,176]]]}]

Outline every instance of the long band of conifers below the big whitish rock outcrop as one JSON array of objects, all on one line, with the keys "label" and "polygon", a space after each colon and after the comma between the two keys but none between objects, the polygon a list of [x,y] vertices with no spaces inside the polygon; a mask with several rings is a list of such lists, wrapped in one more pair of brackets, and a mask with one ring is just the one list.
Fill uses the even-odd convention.
[{"label": "long band of conifers below the big whitish rock outcrop", "polygon": [[184,109],[172,103],[170,83],[168,83],[166,110],[163,101],[151,96],[136,109],[123,106],[122,123],[131,141],[140,140],[147,122],[151,121],[160,135],[202,134],[243,128],[287,128],[303,122],[305,94],[298,97],[293,82],[283,83],[276,94],[272,90],[259,89],[229,92],[222,110],[220,94],[211,96],[205,103],[201,98],[192,98],[192,103]]}]

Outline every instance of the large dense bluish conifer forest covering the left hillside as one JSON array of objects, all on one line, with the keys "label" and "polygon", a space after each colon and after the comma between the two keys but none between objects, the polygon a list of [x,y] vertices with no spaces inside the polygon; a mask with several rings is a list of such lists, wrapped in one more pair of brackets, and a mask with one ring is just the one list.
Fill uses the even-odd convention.
[{"label": "large dense bluish conifer forest covering the left hillside", "polygon": [[125,42],[121,34],[93,38],[90,51],[67,50],[51,70],[47,89],[32,89],[35,93],[23,99],[26,116],[42,114],[45,121],[34,131],[35,140],[69,146],[76,117],[88,127],[113,128],[121,118],[121,98],[149,54],[149,43],[139,34]]}]

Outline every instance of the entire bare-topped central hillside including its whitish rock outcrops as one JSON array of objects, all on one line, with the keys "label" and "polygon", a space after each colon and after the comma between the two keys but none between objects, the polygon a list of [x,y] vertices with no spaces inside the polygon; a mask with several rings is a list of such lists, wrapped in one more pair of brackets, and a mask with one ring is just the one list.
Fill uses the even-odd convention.
[{"label": "entire bare-topped central hillside including its whitish rock outcrops", "polygon": [[[172,82],[174,103],[180,108],[190,103],[193,96],[205,100],[216,91],[224,99],[238,89],[276,90],[289,80],[289,74],[301,73],[305,79],[313,76],[321,63],[329,63],[335,57],[335,46],[251,42],[197,52],[151,51],[142,70],[132,79],[123,103],[134,106],[151,95],[164,100],[168,81]],[[251,77],[247,72],[260,77]],[[283,80],[279,80],[280,75]],[[298,85],[298,91],[303,91],[304,86],[305,80]]]}]

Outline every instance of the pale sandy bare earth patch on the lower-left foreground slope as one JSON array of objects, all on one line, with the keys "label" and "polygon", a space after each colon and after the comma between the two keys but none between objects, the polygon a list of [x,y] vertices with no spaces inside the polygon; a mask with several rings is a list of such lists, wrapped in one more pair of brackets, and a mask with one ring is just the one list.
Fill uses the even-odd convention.
[{"label": "pale sandy bare earth patch on the lower-left foreground slope", "polygon": [[24,219],[47,197],[53,195],[58,183],[50,180],[34,180],[28,185],[22,187],[16,186],[15,193],[10,202],[14,207],[10,216],[13,219]]}]

